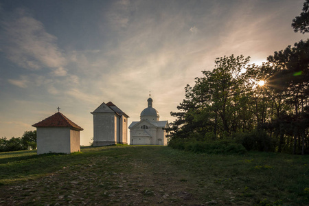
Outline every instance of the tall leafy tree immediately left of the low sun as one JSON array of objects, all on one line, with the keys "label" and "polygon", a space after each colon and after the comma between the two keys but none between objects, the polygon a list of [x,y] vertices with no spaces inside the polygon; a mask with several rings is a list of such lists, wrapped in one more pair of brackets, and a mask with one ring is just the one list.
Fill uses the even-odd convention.
[{"label": "tall leafy tree immediately left of the low sun", "polygon": [[236,124],[240,115],[239,103],[246,93],[242,71],[245,70],[249,59],[250,57],[233,55],[216,58],[214,70],[202,71],[204,77],[196,78],[194,91],[200,93],[200,96],[204,95],[207,100],[205,102],[205,98],[200,98],[201,105],[207,103],[207,107],[204,106],[203,109],[210,108],[214,113],[214,135],[217,135],[217,128],[222,128],[221,137],[231,135],[237,130],[235,127],[232,128],[232,124]]}]

